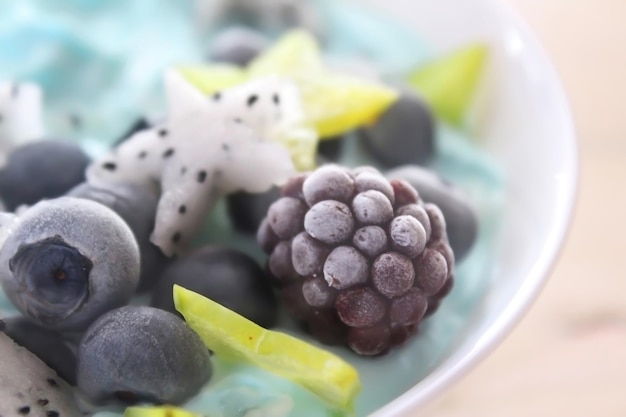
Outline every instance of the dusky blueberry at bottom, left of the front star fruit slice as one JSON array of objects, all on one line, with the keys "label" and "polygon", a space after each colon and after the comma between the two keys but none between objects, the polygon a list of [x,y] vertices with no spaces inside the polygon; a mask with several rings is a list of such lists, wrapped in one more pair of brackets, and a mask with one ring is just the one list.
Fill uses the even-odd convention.
[{"label": "dusky blueberry at bottom, left of the front star fruit slice", "polygon": [[95,404],[181,404],[211,373],[200,336],[175,315],[147,306],[109,311],[78,347],[78,388]]}]

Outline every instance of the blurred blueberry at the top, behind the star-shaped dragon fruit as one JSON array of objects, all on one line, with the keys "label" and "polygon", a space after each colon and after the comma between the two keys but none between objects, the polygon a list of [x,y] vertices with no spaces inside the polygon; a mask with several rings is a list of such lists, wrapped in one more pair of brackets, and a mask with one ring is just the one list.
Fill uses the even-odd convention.
[{"label": "blurred blueberry at the top, behind the star-shaped dragon fruit", "polygon": [[209,59],[243,67],[268,46],[268,40],[261,33],[248,28],[231,27],[215,38]]}]

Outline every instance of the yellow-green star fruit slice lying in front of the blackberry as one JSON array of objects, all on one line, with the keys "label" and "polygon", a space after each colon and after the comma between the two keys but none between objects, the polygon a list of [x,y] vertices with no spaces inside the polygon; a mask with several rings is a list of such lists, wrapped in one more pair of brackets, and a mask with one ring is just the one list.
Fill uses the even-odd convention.
[{"label": "yellow-green star fruit slice lying in front of the blackberry", "polygon": [[352,410],[357,370],[340,357],[286,333],[264,329],[193,291],[174,286],[174,304],[222,359],[246,362],[296,382],[328,403]]}]

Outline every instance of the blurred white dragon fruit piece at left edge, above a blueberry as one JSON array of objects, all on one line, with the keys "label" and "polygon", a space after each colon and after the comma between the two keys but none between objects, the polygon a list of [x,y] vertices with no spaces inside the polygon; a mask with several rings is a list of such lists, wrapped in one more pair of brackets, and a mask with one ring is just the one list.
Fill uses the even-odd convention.
[{"label": "blurred white dragon fruit piece at left edge, above a blueberry", "polygon": [[0,162],[15,146],[43,136],[42,101],[35,84],[0,82]]}]

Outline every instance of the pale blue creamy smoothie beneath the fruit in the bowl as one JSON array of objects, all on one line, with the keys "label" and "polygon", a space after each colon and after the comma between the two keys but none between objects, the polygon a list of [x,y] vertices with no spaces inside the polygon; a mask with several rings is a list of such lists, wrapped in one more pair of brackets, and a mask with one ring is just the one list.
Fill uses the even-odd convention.
[{"label": "pale blue creamy smoothie beneath the fruit in the bowl", "polygon": [[[381,73],[396,76],[433,57],[419,34],[379,10],[336,0],[319,0],[317,5],[328,35],[324,48],[331,57],[383,63],[378,68]],[[163,113],[161,77],[165,69],[202,61],[214,34],[197,30],[190,24],[192,16],[191,1],[68,0],[63,7],[49,0],[0,2],[0,80],[41,85],[50,136],[79,141],[96,155],[137,117]],[[85,108],[88,113],[83,113]],[[78,128],[69,121],[72,115],[81,120]],[[359,370],[363,391],[356,401],[358,416],[398,397],[445,360],[490,286],[494,232],[505,184],[499,167],[475,143],[463,132],[438,126],[432,168],[475,203],[480,229],[472,251],[457,264],[453,291],[437,313],[424,321],[418,337],[383,357],[359,357],[347,348],[319,344],[296,330],[296,324],[282,314],[278,329],[337,353]],[[348,138],[345,145],[343,163],[370,162],[355,138]],[[251,237],[233,232],[223,202],[207,218],[199,243],[237,247],[261,262],[265,259]],[[16,314],[3,294],[0,310],[5,316]],[[282,378],[214,359],[215,375],[185,405],[189,410],[210,417],[344,414]]]}]

